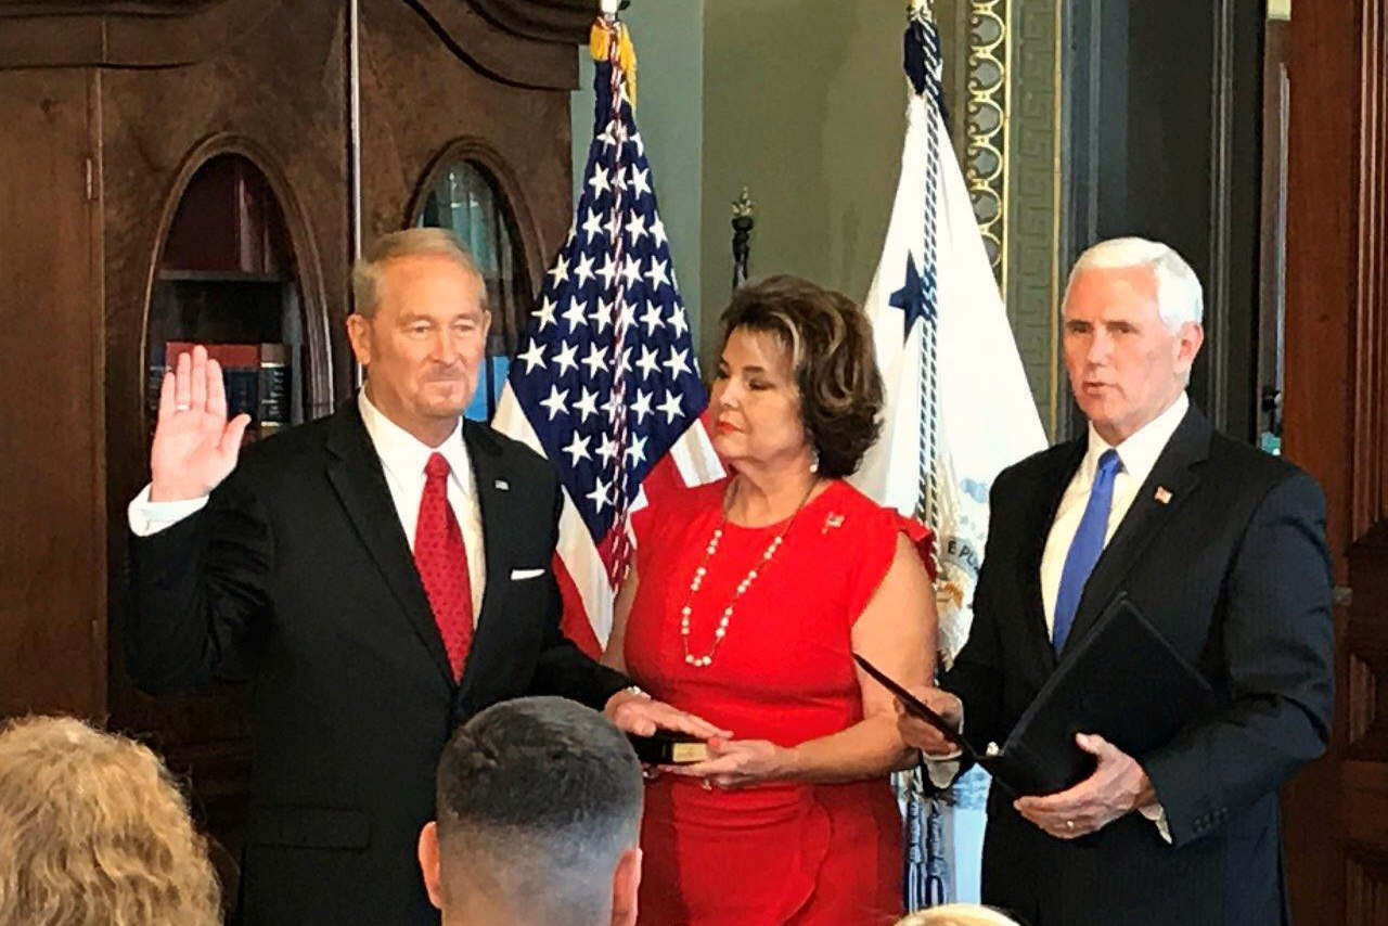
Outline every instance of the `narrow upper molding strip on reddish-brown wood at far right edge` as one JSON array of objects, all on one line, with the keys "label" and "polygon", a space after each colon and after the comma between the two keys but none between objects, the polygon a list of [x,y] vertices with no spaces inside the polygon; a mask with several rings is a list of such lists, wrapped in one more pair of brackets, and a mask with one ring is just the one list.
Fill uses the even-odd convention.
[{"label": "narrow upper molding strip on reddish-brown wood at far right edge", "polygon": [[1388,519],[1388,1],[1363,0],[1352,536]]}]

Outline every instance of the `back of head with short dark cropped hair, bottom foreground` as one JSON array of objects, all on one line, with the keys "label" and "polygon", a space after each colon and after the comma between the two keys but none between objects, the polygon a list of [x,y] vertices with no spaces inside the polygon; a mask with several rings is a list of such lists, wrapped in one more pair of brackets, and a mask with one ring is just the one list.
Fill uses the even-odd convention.
[{"label": "back of head with short dark cropped hair, bottom foreground", "polygon": [[504,701],[452,734],[419,861],[444,923],[636,922],[641,766],[597,711]]}]

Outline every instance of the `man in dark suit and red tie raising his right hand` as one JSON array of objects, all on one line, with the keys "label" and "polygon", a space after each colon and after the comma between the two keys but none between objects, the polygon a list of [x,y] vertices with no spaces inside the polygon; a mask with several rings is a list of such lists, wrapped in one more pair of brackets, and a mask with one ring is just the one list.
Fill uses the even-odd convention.
[{"label": "man in dark suit and red tie raising his right hand", "polygon": [[253,671],[240,922],[434,925],[415,865],[450,733],[519,696],[622,729],[720,732],[559,630],[551,465],[462,411],[491,315],[448,232],[375,242],[347,333],[365,389],[242,453],[198,347],[164,378],[130,503],[128,661],[147,691]]}]

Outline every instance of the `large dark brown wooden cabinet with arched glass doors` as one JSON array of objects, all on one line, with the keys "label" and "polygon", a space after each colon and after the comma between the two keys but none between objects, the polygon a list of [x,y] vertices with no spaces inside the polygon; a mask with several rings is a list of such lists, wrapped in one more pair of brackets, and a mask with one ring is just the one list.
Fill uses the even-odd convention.
[{"label": "large dark brown wooden cabinet with arched glass doors", "polygon": [[[119,655],[151,353],[174,333],[254,340],[250,314],[283,312],[303,411],[329,412],[354,383],[353,217],[362,240],[415,224],[457,153],[504,200],[516,292],[536,292],[568,230],[595,6],[361,0],[353,29],[353,4],[318,0],[0,4],[0,714],[150,739],[235,843],[242,690],[149,698]],[[203,182],[226,164],[240,180]]]}]

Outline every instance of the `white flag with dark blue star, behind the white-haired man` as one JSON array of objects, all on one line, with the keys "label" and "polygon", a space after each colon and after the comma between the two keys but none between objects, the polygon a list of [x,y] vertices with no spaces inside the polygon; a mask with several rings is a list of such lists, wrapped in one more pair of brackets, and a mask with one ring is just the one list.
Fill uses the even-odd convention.
[{"label": "white flag with dark blue star, behind the white-haired man", "polygon": [[[969,639],[998,472],[1045,447],[1026,372],[945,131],[940,37],[923,8],[905,36],[909,103],[901,180],[863,308],[886,421],[854,483],[936,532],[941,668]],[[909,909],[977,901],[988,779],[944,794],[898,777]]]}]

